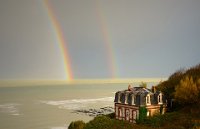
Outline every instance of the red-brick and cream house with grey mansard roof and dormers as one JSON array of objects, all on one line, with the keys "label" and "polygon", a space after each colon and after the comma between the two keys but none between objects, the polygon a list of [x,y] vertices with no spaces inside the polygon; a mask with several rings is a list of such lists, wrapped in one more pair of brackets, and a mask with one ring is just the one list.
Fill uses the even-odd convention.
[{"label": "red-brick and cream house with grey mansard roof and dormers", "polygon": [[143,87],[128,87],[127,90],[115,93],[115,117],[135,123],[139,119],[141,107],[147,109],[147,116],[166,112],[166,99],[162,92],[155,88],[149,90]]}]

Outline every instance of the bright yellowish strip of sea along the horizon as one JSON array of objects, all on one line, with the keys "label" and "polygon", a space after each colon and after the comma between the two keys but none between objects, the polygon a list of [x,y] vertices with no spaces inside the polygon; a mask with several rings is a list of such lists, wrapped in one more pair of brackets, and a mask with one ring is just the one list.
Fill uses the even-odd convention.
[{"label": "bright yellowish strip of sea along the horizon", "polygon": [[45,86],[45,85],[76,85],[76,84],[113,84],[113,83],[158,83],[167,80],[158,78],[124,78],[124,79],[73,79],[73,80],[0,80],[0,87],[14,86]]}]

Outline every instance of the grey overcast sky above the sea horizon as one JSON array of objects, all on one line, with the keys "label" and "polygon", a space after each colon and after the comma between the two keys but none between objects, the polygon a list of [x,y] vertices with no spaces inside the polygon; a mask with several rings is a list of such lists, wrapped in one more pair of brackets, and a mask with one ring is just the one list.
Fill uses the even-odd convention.
[{"label": "grey overcast sky above the sea horizon", "polygon": [[[168,77],[200,63],[200,0],[49,3],[75,79],[113,78],[109,62],[114,78]],[[65,79],[55,37],[42,0],[1,0],[0,79]]]}]

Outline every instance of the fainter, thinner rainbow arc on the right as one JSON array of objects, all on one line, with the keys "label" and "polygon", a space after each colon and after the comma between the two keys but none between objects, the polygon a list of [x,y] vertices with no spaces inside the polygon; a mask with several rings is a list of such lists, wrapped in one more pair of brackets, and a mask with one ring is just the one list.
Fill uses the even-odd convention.
[{"label": "fainter, thinner rainbow arc on the right", "polygon": [[106,46],[106,52],[108,56],[107,60],[109,63],[111,77],[116,78],[117,68],[115,65],[116,61],[115,61],[115,56],[114,56],[115,54],[113,50],[112,40],[111,40],[111,36],[109,36],[109,30],[106,24],[106,18],[103,12],[100,10],[100,3],[98,1],[97,1],[97,17],[98,17],[98,21],[100,21],[100,27],[103,34],[103,40]]}]

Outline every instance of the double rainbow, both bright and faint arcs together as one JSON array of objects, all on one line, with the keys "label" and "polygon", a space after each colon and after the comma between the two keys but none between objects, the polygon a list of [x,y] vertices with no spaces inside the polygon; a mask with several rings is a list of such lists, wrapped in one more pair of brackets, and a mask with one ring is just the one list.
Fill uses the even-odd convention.
[{"label": "double rainbow, both bright and faint arcs together", "polygon": [[[65,74],[66,74],[66,79],[68,81],[73,80],[73,73],[72,73],[72,69],[71,69],[71,61],[70,61],[70,57],[69,57],[69,53],[67,50],[67,40],[66,37],[64,37],[63,35],[63,31],[61,29],[60,23],[55,15],[55,11],[53,10],[51,3],[48,0],[44,0],[44,5],[45,8],[47,10],[48,13],[48,17],[51,21],[52,27],[55,31],[55,35],[56,35],[56,39],[57,39],[57,43],[58,46],[61,50],[61,55],[63,58],[63,62],[64,62],[64,69],[65,69]],[[110,36],[109,33],[109,29],[106,23],[106,17],[105,17],[105,13],[103,12],[102,8],[100,7],[100,3],[97,1],[96,3],[96,15],[97,15],[97,19],[99,21],[100,24],[100,28],[101,28],[101,33],[102,33],[102,39],[106,48],[106,55],[107,55],[107,62],[108,62],[108,66],[109,66],[109,72],[110,72],[110,77],[111,78],[115,78],[117,75],[117,66],[116,64],[116,60],[115,60],[115,52],[113,49],[113,44],[112,44],[112,38]]]}]

